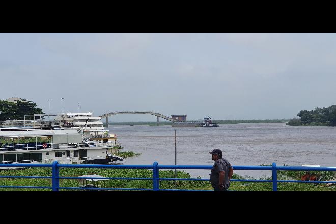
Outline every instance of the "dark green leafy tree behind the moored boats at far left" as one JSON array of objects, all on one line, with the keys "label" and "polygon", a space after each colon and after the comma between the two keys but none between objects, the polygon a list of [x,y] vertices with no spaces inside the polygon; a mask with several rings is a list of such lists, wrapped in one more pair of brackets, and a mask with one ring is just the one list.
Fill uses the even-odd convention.
[{"label": "dark green leafy tree behind the moored boats at far left", "polygon": [[33,101],[21,100],[15,100],[15,102],[0,100],[1,120],[24,120],[24,115],[44,114]]}]

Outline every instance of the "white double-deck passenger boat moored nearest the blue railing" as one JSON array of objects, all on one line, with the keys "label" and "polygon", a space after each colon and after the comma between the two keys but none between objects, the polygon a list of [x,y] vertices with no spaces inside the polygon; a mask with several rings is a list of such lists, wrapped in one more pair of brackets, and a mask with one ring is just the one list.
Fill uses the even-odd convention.
[{"label": "white double-deck passenger boat moored nearest the blue railing", "polygon": [[0,128],[0,163],[106,164],[122,160],[107,155],[106,144],[83,142],[76,129]]}]

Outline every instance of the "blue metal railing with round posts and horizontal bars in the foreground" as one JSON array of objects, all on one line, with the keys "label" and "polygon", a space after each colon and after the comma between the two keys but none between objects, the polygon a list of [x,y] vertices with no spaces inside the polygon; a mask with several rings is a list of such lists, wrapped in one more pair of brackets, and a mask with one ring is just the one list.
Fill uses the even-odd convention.
[{"label": "blue metal railing with round posts and horizontal bars in the foreground", "polygon": [[[59,164],[57,161],[52,164],[0,164],[0,167],[49,167],[52,170],[51,177],[43,176],[0,176],[0,178],[40,178],[51,179],[52,186],[0,186],[0,188],[37,188],[37,189],[52,189],[52,191],[59,191],[60,189],[71,190],[141,190],[141,191],[209,191],[209,190],[181,190],[181,189],[160,189],[159,181],[210,181],[210,179],[198,178],[159,178],[159,170],[175,170],[175,169],[199,169],[211,170],[212,166],[208,165],[159,165],[154,162],[153,165],[67,165]],[[128,177],[90,177],[89,179],[99,180],[152,180],[153,189],[144,188],[85,188],[85,187],[60,187],[60,179],[84,179],[82,177],[60,177],[60,168],[100,168],[100,169],[152,169],[152,178],[128,178]],[[336,183],[336,181],[298,181],[298,180],[277,180],[277,171],[336,171],[336,167],[302,167],[302,166],[233,166],[234,170],[264,170],[272,171],[272,180],[241,180],[231,179],[231,182],[271,182],[273,191],[277,191],[277,183]]]}]

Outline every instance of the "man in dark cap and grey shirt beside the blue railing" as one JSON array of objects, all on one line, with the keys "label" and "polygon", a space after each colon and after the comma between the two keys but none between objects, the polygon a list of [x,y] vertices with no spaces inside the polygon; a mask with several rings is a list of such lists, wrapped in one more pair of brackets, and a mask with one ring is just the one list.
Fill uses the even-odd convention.
[{"label": "man in dark cap and grey shirt beside the blue railing", "polygon": [[210,174],[210,183],[213,190],[227,191],[230,187],[233,168],[228,160],[223,159],[223,153],[220,149],[214,149],[210,154],[212,154],[212,160],[215,161]]}]

